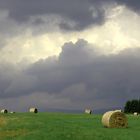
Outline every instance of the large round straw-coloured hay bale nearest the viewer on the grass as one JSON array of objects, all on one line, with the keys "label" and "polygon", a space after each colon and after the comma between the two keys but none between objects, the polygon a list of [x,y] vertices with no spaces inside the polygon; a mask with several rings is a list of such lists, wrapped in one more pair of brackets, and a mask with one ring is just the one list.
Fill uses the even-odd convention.
[{"label": "large round straw-coloured hay bale nearest the viewer on the grass", "polygon": [[125,128],[127,127],[127,117],[122,112],[108,111],[102,117],[102,124],[108,128]]}]

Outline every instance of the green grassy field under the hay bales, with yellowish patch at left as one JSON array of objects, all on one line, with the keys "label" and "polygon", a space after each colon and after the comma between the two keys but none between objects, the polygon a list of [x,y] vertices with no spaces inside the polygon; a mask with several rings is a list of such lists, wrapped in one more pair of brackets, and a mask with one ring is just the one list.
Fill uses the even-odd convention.
[{"label": "green grassy field under the hay bales, with yellowish patch at left", "polygon": [[16,113],[0,117],[0,140],[138,140],[140,117],[126,129],[104,128],[101,115]]}]

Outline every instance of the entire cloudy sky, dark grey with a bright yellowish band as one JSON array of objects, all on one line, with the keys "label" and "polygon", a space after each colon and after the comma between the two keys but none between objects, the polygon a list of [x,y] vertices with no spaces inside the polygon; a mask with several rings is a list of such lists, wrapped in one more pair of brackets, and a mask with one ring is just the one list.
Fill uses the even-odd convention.
[{"label": "entire cloudy sky, dark grey with a bright yellowish band", "polygon": [[139,0],[0,0],[0,108],[139,99],[139,25]]}]

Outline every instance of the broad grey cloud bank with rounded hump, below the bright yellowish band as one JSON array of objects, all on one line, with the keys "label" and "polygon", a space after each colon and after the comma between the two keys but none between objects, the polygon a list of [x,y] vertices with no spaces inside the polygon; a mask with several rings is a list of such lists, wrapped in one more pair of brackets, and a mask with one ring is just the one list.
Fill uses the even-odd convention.
[{"label": "broad grey cloud bank with rounded hump, below the bright yellowish band", "polygon": [[69,42],[58,59],[40,60],[18,75],[10,69],[0,71],[0,96],[46,93],[55,100],[69,99],[75,105],[98,101],[113,105],[114,101],[121,106],[127,99],[139,97],[139,53],[140,49],[135,48],[101,56],[85,40]]}]

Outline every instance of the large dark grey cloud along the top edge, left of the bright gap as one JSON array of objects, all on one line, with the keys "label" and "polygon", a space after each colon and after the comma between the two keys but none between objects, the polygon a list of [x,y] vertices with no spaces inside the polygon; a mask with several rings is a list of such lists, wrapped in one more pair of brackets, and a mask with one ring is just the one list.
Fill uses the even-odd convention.
[{"label": "large dark grey cloud along the top edge, left of the bright gap", "polygon": [[[94,11],[90,9],[91,6]],[[36,15],[58,15],[64,18],[60,27],[68,30],[81,30],[104,21],[104,10],[97,1],[91,5],[85,0],[0,0],[0,8],[7,9],[9,16],[19,22],[25,22]],[[74,25],[67,23],[67,19],[74,22]]]}]

